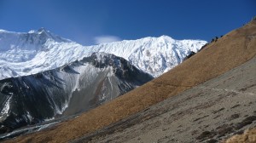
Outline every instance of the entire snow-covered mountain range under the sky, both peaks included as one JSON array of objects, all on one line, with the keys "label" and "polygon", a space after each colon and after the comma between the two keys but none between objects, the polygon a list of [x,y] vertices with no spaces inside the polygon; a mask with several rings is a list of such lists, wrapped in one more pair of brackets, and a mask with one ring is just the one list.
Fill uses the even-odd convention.
[{"label": "entire snow-covered mountain range under the sky, both peaks included", "polygon": [[44,28],[28,33],[0,30],[0,79],[55,69],[82,60],[94,52],[123,57],[157,77],[177,66],[187,54],[198,51],[205,43],[200,40],[178,41],[163,36],[85,47]]}]

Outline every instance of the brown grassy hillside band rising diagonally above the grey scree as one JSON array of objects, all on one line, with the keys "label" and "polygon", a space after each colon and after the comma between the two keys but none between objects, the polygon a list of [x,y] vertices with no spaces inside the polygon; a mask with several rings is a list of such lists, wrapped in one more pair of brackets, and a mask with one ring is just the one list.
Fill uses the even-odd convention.
[{"label": "brown grassy hillside band rising diagonally above the grey scree", "polygon": [[8,142],[67,142],[101,129],[240,66],[256,55],[256,21],[224,35],[200,53],[154,79],[55,129],[20,136]]}]

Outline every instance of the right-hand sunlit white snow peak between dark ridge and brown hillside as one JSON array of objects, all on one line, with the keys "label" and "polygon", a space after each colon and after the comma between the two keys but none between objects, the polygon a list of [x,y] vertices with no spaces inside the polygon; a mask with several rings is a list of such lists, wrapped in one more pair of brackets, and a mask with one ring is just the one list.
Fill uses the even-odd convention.
[{"label": "right-hand sunlit white snow peak between dark ridge and brown hillside", "polygon": [[161,36],[103,43],[87,49],[123,57],[144,72],[158,77],[180,64],[192,51],[196,53],[206,43],[202,40],[175,40]]}]

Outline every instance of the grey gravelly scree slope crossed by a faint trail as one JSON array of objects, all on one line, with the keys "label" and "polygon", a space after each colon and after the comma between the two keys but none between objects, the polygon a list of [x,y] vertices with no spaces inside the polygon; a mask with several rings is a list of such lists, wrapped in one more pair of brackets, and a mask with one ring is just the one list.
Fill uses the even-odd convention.
[{"label": "grey gravelly scree slope crossed by a faint trail", "polygon": [[255,63],[256,56],[230,72],[73,142],[220,142],[256,127]]}]

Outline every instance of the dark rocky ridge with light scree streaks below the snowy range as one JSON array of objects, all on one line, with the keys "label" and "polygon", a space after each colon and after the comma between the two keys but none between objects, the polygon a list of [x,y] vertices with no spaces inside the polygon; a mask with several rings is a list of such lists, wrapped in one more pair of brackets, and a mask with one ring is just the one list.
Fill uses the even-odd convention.
[{"label": "dark rocky ridge with light scree streaks below the snowy range", "polygon": [[3,79],[1,131],[87,111],[151,79],[127,60],[104,53],[55,70]]}]

